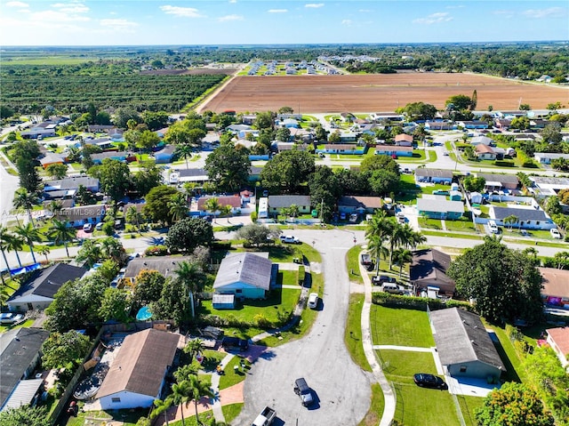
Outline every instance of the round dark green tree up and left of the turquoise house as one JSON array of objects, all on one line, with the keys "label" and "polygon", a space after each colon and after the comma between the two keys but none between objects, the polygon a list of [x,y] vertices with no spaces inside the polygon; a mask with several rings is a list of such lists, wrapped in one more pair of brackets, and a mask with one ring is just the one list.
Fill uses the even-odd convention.
[{"label": "round dark green tree up and left of the turquoise house", "polygon": [[165,245],[170,251],[192,253],[197,246],[211,245],[212,241],[212,224],[200,218],[189,217],[172,225]]}]

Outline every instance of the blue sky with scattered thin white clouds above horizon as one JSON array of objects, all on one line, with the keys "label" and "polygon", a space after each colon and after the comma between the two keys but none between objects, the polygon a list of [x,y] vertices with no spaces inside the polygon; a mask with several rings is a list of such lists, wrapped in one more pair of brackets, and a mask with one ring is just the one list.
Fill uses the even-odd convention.
[{"label": "blue sky with scattered thin white clouds above horizon", "polygon": [[569,40],[569,0],[0,0],[0,45]]}]

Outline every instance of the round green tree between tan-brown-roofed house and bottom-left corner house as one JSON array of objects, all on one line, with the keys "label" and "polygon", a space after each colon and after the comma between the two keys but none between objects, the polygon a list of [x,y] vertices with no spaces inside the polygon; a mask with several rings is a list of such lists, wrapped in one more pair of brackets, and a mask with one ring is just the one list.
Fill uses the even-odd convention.
[{"label": "round green tree between tan-brown-roofed house and bottom-left corner house", "polygon": [[89,337],[69,330],[67,333],[52,333],[42,344],[44,368],[60,368],[73,364],[78,366],[91,348]]}]

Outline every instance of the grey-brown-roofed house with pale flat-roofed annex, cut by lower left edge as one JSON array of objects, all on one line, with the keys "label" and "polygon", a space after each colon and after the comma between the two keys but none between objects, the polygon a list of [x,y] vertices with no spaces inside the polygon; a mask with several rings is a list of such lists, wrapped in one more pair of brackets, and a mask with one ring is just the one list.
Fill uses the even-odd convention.
[{"label": "grey-brown-roofed house with pale flat-roofed annex, cut by lower left edge", "polygon": [[49,335],[41,328],[15,328],[0,334],[0,411],[31,404],[36,397],[44,381],[27,379],[36,369]]}]

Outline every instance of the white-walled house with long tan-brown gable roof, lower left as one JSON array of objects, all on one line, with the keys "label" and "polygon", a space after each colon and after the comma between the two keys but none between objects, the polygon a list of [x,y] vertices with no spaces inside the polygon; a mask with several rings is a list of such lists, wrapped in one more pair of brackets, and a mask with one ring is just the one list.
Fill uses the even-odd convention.
[{"label": "white-walled house with long tan-brown gable roof, lower left", "polygon": [[126,336],[95,396],[101,409],[152,406],[162,397],[179,342],[180,334],[154,328]]}]

